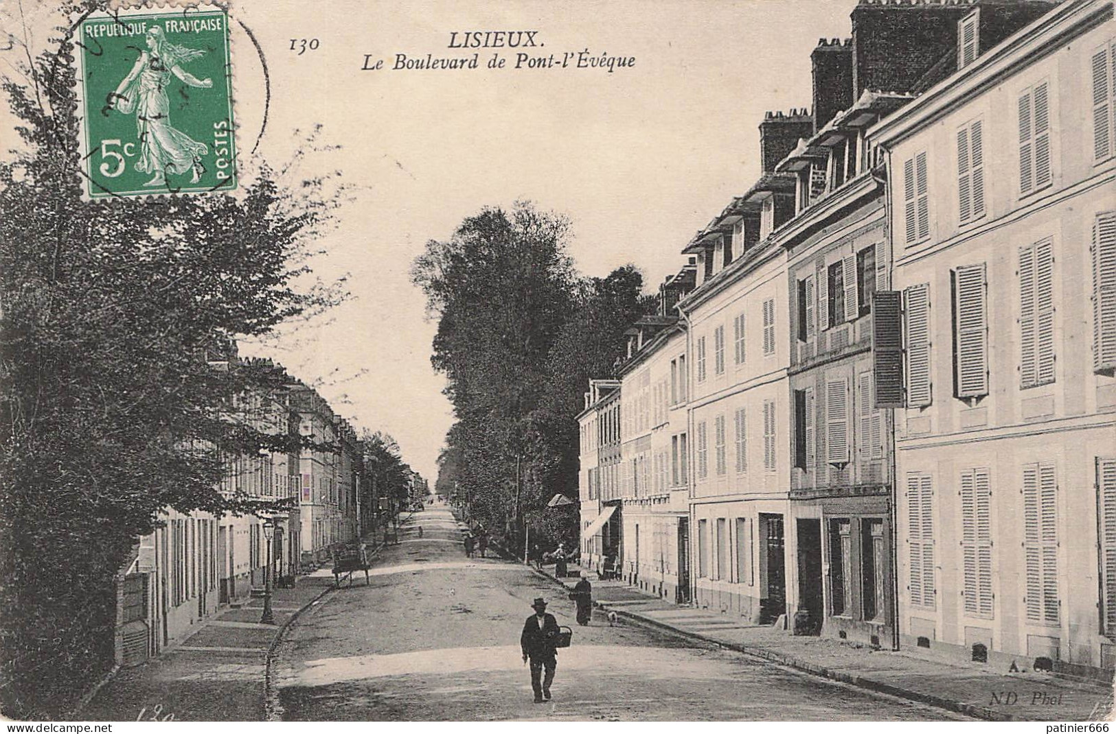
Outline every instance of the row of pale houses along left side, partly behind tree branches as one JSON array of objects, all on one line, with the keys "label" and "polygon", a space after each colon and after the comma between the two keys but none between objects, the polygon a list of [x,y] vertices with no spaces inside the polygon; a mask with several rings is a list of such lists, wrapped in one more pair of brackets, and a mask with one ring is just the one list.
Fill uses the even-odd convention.
[{"label": "row of pale houses along left side, partly behind tree branches", "polygon": [[[211,359],[228,369],[223,355]],[[268,363],[270,364],[270,363]],[[254,513],[179,512],[167,508],[161,527],[138,539],[118,574],[116,658],[142,663],[190,636],[222,607],[244,603],[271,581],[328,563],[330,547],[359,541],[398,510],[376,475],[364,469],[354,427],[312,387],[290,378],[282,387],[237,396],[228,416],[262,434],[283,436],[289,452],[229,455],[221,493]],[[411,472],[412,484],[422,479]]]}]

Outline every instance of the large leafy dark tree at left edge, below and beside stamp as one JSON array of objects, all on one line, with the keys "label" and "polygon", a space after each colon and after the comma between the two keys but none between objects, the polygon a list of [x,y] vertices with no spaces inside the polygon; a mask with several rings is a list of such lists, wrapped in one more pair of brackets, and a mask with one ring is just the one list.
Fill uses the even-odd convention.
[{"label": "large leafy dark tree at left edge, below and beside stamp", "polygon": [[258,164],[234,196],[81,201],[69,33],[3,84],[0,706],[20,718],[65,716],[113,665],[114,574],[160,510],[252,509],[219,492],[222,460],[276,440],[229,406],[286,378],[210,350],[338,297],[305,269],[329,181]]}]

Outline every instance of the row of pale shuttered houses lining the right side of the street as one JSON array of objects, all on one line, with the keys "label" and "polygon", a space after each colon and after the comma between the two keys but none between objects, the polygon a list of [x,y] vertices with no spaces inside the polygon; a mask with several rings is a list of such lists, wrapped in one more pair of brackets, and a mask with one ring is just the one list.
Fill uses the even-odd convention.
[{"label": "row of pale shuttered houses lining the right side of the street", "polygon": [[579,416],[581,552],[788,634],[1116,666],[1112,0],[862,0]]}]

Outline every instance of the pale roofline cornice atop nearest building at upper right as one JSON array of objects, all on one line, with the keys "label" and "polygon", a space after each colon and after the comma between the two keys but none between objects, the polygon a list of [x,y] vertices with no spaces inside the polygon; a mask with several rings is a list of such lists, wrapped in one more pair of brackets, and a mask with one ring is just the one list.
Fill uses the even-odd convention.
[{"label": "pale roofline cornice atop nearest building at upper right", "polygon": [[885,147],[893,146],[1112,18],[1113,0],[1069,0],[1056,6],[970,66],[931,87],[898,114],[878,122],[868,129],[868,137]]}]

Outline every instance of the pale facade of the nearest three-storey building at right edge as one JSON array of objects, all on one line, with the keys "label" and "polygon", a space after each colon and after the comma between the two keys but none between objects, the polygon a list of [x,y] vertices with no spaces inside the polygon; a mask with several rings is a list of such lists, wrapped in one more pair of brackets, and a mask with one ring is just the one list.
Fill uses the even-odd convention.
[{"label": "pale facade of the nearest three-storey building at right edge", "polygon": [[1112,669],[1113,3],[1064,2],[997,46],[974,36],[956,71],[869,131],[903,335],[901,641]]}]

